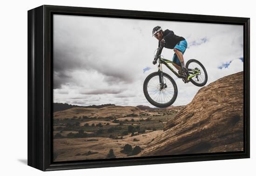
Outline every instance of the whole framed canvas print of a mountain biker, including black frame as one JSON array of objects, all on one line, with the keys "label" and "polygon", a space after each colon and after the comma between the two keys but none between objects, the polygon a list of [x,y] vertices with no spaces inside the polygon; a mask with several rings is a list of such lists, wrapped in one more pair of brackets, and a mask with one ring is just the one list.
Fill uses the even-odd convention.
[{"label": "whole framed canvas print of a mountain biker, including black frame", "polygon": [[28,11],[28,165],[249,157],[249,18]]}]

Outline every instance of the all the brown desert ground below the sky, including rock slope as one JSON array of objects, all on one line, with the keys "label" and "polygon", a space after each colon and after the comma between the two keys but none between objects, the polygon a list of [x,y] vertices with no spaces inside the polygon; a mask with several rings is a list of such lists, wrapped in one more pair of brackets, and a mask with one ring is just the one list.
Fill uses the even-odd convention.
[{"label": "all the brown desert ground below the sky, including rock slope", "polygon": [[186,106],[54,103],[53,122],[54,161],[243,151],[243,72]]}]

